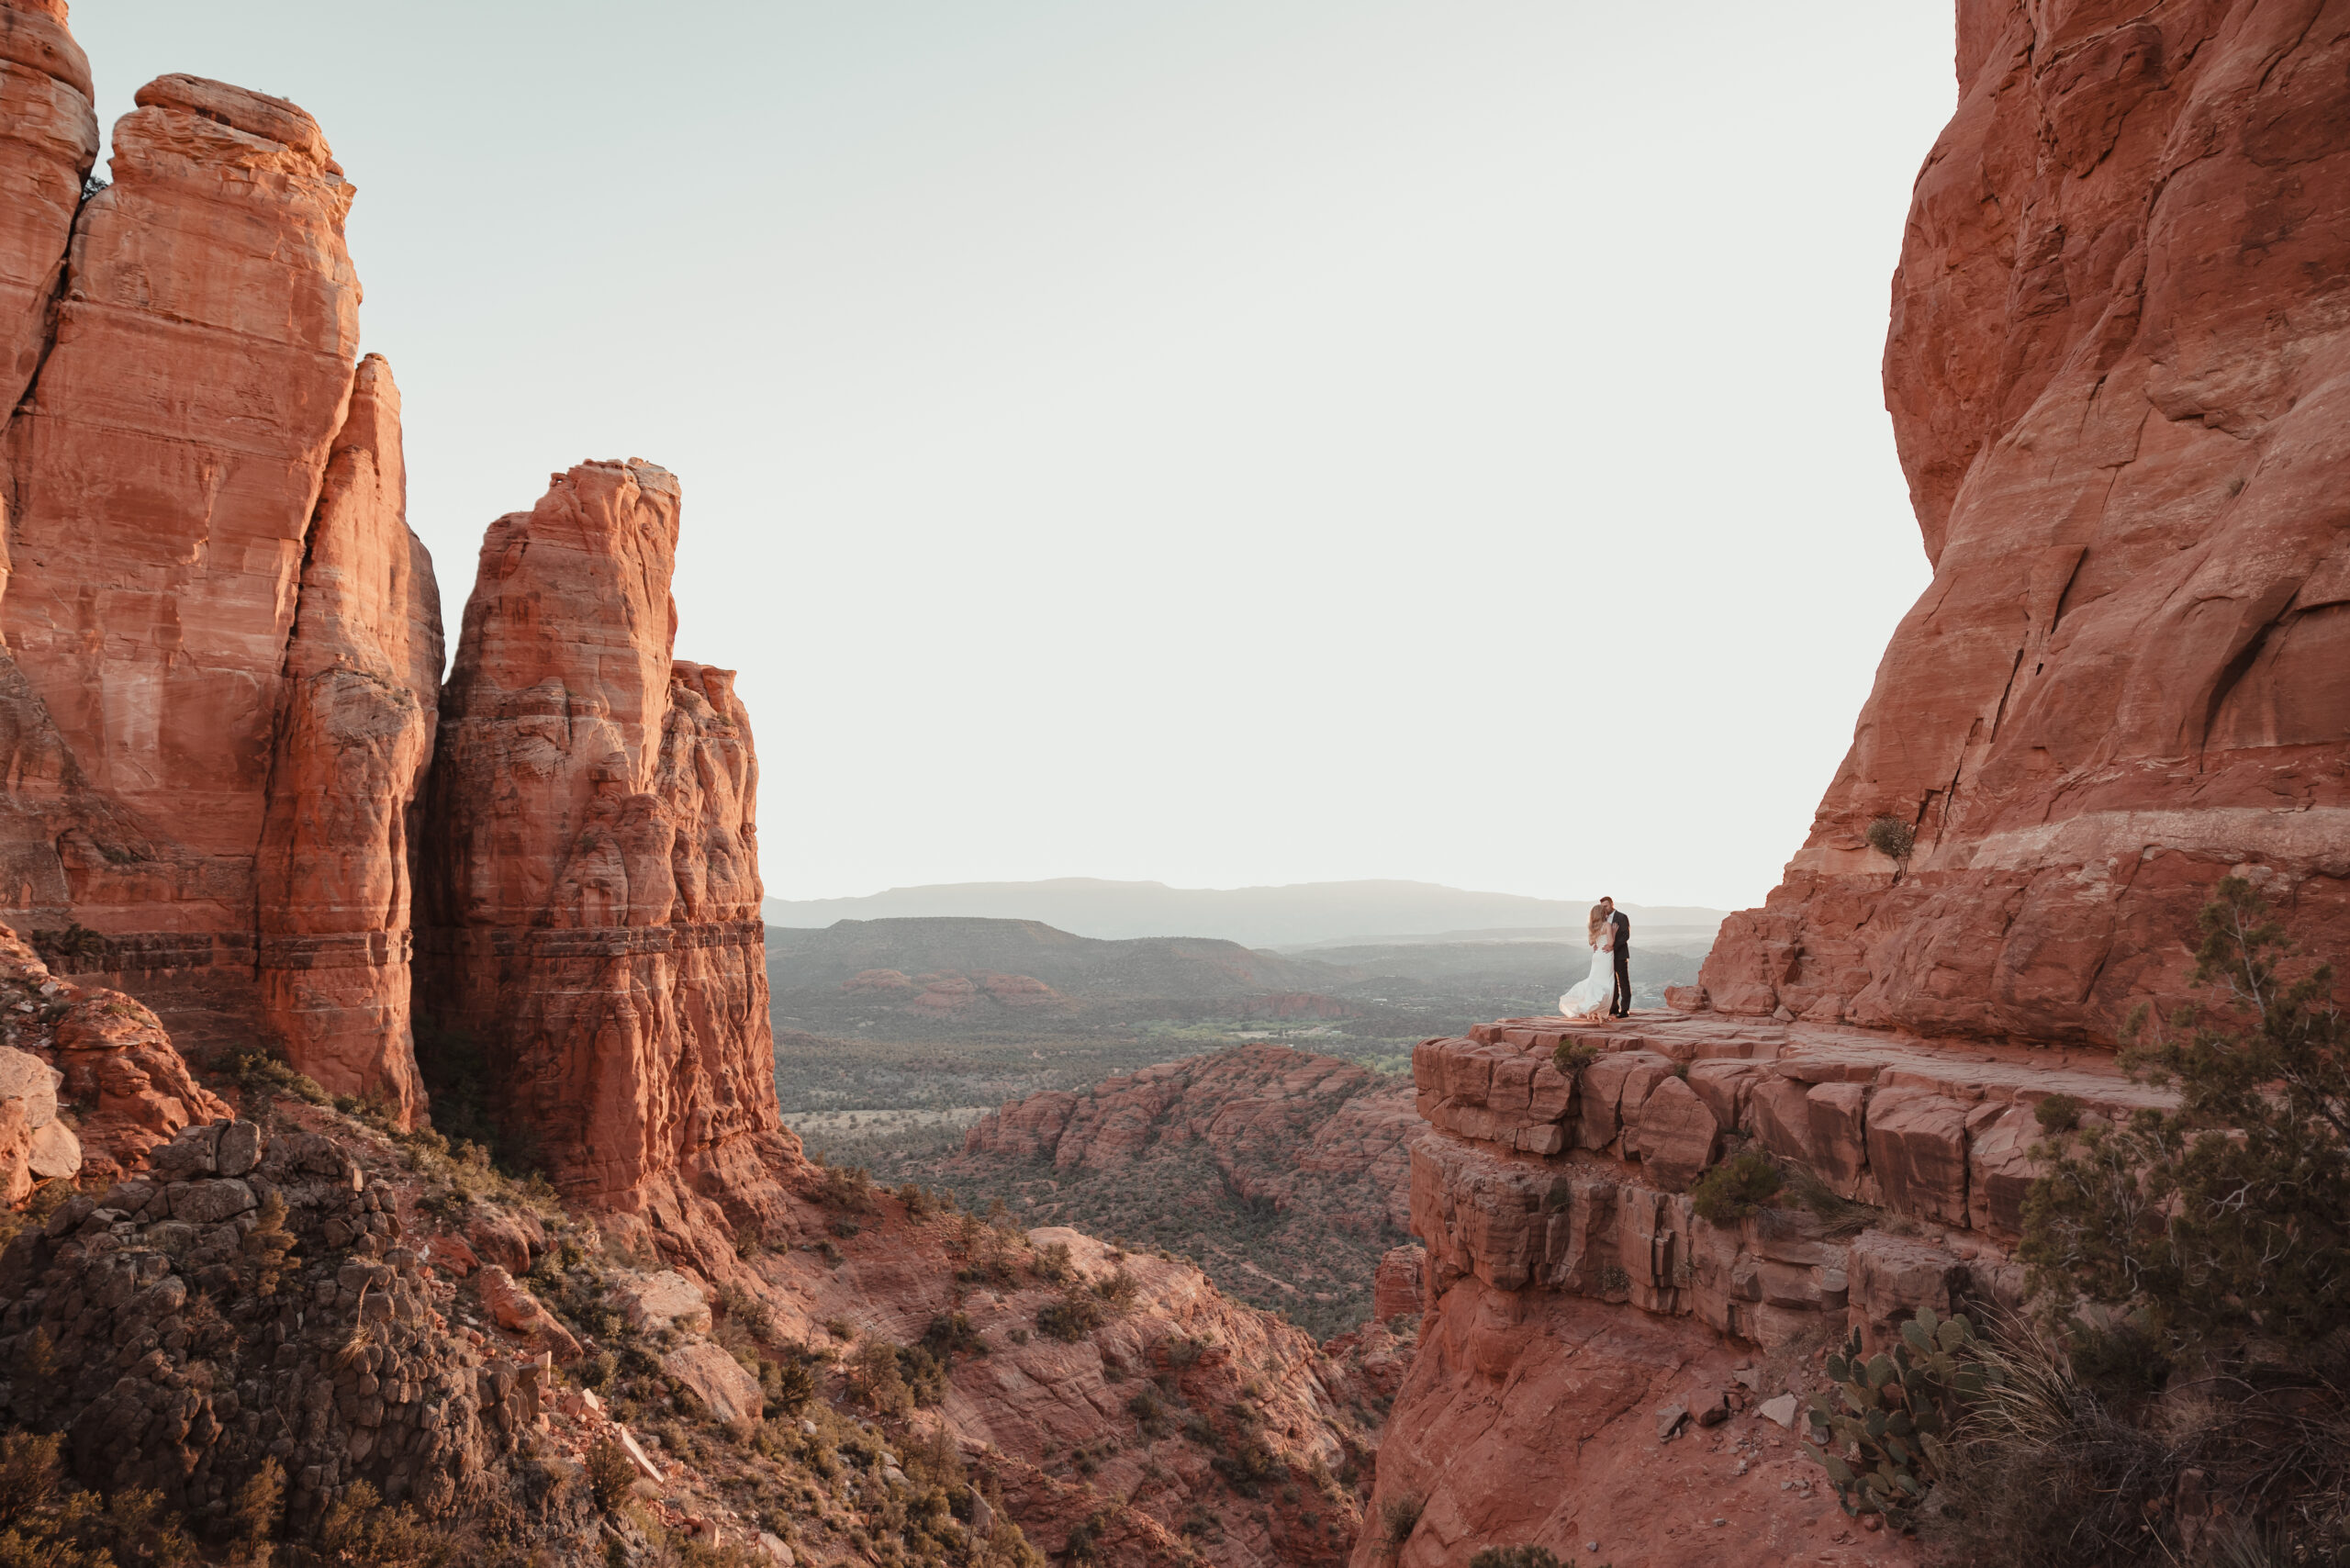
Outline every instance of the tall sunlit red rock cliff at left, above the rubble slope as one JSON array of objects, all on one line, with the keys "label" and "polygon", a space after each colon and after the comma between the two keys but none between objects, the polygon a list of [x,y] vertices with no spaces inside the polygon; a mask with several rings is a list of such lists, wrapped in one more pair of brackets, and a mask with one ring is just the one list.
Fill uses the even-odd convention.
[{"label": "tall sunlit red rock cliff at left, above the rubble slope", "polygon": [[301,108],[167,75],[82,200],[63,5],[0,7],[0,903],[103,938],[52,954],[183,1041],[275,1039],[409,1117],[439,607],[397,393],[352,367],[352,186]]}]

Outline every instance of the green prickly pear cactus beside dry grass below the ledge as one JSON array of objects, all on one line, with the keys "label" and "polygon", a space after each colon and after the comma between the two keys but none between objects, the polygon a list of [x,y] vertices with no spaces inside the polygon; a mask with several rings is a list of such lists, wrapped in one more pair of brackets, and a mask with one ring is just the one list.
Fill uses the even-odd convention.
[{"label": "green prickly pear cactus beside dry grass below the ledge", "polygon": [[1932,1307],[1901,1324],[1892,1354],[1861,1356],[1852,1333],[1845,1354],[1828,1356],[1842,1410],[1812,1396],[1812,1441],[1802,1448],[1828,1472],[1852,1516],[1882,1514],[1906,1528],[1934,1483],[1948,1472],[1946,1439],[1960,1408],[1979,1399],[1988,1371],[1965,1314],[1936,1319]]}]

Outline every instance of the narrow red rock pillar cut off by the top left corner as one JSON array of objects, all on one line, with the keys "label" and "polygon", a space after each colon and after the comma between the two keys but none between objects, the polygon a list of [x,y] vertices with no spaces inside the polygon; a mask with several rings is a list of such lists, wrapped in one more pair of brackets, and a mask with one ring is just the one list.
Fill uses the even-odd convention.
[{"label": "narrow red rock pillar cut off by the top left corner", "polygon": [[89,61],[63,0],[0,2],[0,409],[49,350],[49,313],[82,181],[99,158]]}]

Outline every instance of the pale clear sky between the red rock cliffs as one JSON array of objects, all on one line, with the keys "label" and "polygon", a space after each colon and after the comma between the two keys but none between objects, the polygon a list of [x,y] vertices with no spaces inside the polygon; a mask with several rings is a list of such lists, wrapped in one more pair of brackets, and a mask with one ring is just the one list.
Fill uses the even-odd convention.
[{"label": "pale clear sky between the red rock cliffs", "polygon": [[[1943,0],[75,0],[294,99],[451,632],[684,484],[768,893],[1760,903],[1927,564],[1878,357]],[[451,637],[454,642],[454,637]]]}]

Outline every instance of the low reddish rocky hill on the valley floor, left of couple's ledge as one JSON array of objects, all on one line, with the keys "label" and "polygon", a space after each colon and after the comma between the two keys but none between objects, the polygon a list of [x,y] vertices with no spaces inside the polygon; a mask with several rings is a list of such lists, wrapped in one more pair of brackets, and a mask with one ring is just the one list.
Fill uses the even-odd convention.
[{"label": "low reddish rocky hill on the valley floor, left of couple's ledge", "polygon": [[1410,1225],[1410,1086],[1356,1063],[1234,1046],[987,1114],[928,1166],[966,1204],[1201,1260],[1227,1295],[1332,1335],[1372,1316]]}]

